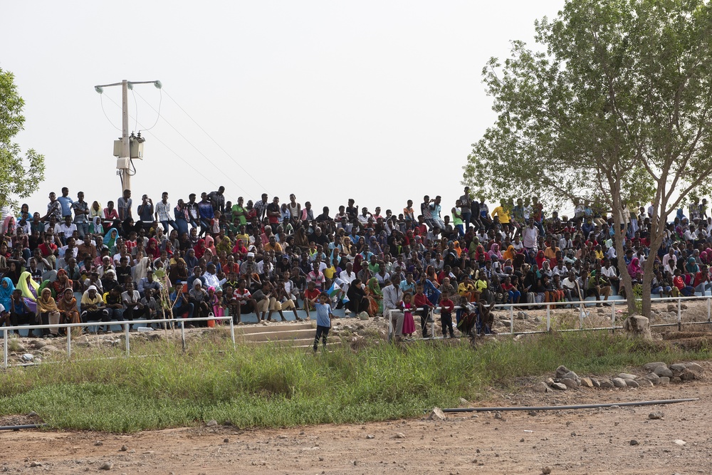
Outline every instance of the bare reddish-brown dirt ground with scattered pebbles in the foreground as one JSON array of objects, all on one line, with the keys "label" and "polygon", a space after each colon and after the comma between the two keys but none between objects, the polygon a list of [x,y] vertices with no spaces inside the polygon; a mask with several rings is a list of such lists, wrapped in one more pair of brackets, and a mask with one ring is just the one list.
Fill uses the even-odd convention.
[{"label": "bare reddish-brown dirt ground with scattered pebbles in the foreground", "polygon": [[[706,374],[712,364],[701,363]],[[631,368],[636,370],[636,368]],[[642,370],[637,368],[637,372]],[[611,376],[611,375],[601,375]],[[699,398],[612,409],[447,414],[280,430],[192,427],[137,434],[0,432],[0,471],[78,474],[709,474],[712,383],[539,394],[493,390],[480,407]],[[467,404],[464,404],[465,406]],[[661,411],[663,419],[651,420]],[[19,424],[25,417],[0,419]],[[632,445],[632,439],[637,445]],[[684,441],[684,445],[674,441]],[[122,451],[122,446],[125,450]],[[31,466],[31,464],[41,466]]]}]

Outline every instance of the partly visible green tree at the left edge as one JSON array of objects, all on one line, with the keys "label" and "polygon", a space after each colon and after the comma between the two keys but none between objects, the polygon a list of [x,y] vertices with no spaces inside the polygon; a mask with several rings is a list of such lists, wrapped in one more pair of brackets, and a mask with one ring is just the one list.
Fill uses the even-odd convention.
[{"label": "partly visible green tree at the left edge", "polygon": [[44,179],[44,155],[24,154],[14,137],[24,128],[25,101],[17,93],[15,76],[0,68],[0,207],[16,205],[31,195]]}]

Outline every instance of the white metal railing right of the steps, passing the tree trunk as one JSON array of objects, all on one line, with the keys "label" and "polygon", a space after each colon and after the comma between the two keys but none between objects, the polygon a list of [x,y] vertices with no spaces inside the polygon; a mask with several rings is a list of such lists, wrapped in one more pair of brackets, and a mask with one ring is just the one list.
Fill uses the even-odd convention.
[{"label": "white metal railing right of the steps, passing the tree trunk", "polygon": [[[642,301],[642,299],[637,298],[637,301]],[[674,301],[677,303],[677,322],[676,323],[656,323],[656,324],[651,324],[651,327],[670,327],[670,326],[676,326],[678,330],[682,330],[682,302],[683,301],[701,301],[701,300],[706,300],[707,301],[707,320],[706,321],[701,321],[701,322],[685,322],[685,325],[703,325],[703,324],[712,324],[712,306],[711,306],[711,301],[712,301],[712,296],[691,296],[691,297],[663,297],[663,298],[651,298],[650,299],[652,303],[662,303],[662,302],[669,302],[669,301]],[[491,306],[492,310],[495,309],[503,309],[503,310],[509,310],[509,333],[505,333],[506,335],[533,335],[537,333],[548,333],[551,330],[551,308],[556,307],[556,306],[571,306],[572,308],[577,308],[579,310],[579,328],[571,328],[571,329],[566,329],[566,330],[558,330],[558,331],[582,331],[582,330],[593,330],[593,331],[600,331],[600,330],[611,330],[612,333],[615,332],[615,330],[622,330],[622,326],[616,326],[616,305],[623,306],[624,308],[627,308],[628,303],[627,301],[624,300],[608,300],[608,301],[595,301],[595,300],[584,300],[584,301],[572,301],[572,302],[541,302],[541,303],[497,303],[493,306]],[[584,321],[585,318],[587,318],[588,314],[586,312],[586,307],[587,306],[595,306],[597,304],[603,304],[605,306],[611,306],[611,326],[609,327],[597,327],[597,328],[584,328]],[[514,331],[514,309],[515,308],[524,308],[524,307],[532,307],[532,306],[546,306],[546,330],[533,330],[533,331],[523,331],[523,332],[515,332]],[[420,308],[414,308],[412,309],[413,313],[417,310],[424,310],[429,307],[420,307]],[[434,310],[439,310],[442,307],[436,306]],[[461,306],[455,306],[454,308],[459,309],[462,308]],[[397,310],[397,309],[389,309],[388,310],[388,340],[391,341],[393,340],[393,318],[392,318],[392,312],[393,311],[402,311],[402,310]],[[431,338],[435,338],[435,321],[433,319],[433,322],[431,322]],[[419,340],[429,340],[431,338],[418,338]]]}]

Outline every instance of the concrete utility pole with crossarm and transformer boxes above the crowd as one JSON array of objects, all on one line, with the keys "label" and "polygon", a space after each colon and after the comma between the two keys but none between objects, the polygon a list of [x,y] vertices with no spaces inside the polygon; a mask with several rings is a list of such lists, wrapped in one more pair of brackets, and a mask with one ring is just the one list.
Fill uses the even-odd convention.
[{"label": "concrete utility pole with crossarm and transformer boxes above the crowd", "polygon": [[[143,159],[142,142],[145,139],[141,138],[141,132],[139,132],[138,137],[135,137],[133,134],[129,136],[128,95],[129,89],[133,89],[134,84],[153,84],[157,89],[163,87],[161,81],[159,80],[130,81],[125,79],[120,83],[94,86],[94,90],[100,94],[104,92],[104,88],[109,88],[115,85],[121,86],[121,138],[114,143],[114,156],[117,157],[116,174],[119,175],[119,178],[121,179],[122,194],[125,189],[131,189],[131,177],[135,174],[135,172],[131,172],[132,159]],[[132,147],[132,142],[134,141],[136,142],[135,152],[133,150],[134,147]],[[117,147],[117,145],[119,146]]]}]

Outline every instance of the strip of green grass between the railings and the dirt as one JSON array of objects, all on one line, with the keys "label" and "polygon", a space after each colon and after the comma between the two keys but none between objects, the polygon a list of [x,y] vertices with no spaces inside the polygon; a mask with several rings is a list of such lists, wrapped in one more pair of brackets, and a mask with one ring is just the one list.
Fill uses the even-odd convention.
[{"label": "strip of green grass between the railings and the dirt", "polygon": [[[700,360],[710,348],[685,351],[605,333],[540,335],[473,349],[415,343],[372,345],[311,355],[278,346],[225,341],[179,345],[154,341],[77,350],[73,362],[0,373],[0,415],[36,411],[50,427],[134,432],[210,419],[237,427],[284,427],[414,417],[459,397],[482,400],[486,388],[517,384],[566,365],[580,375],[606,375],[645,362]],[[99,359],[115,355],[115,359]],[[94,356],[91,357],[90,356]]]}]

